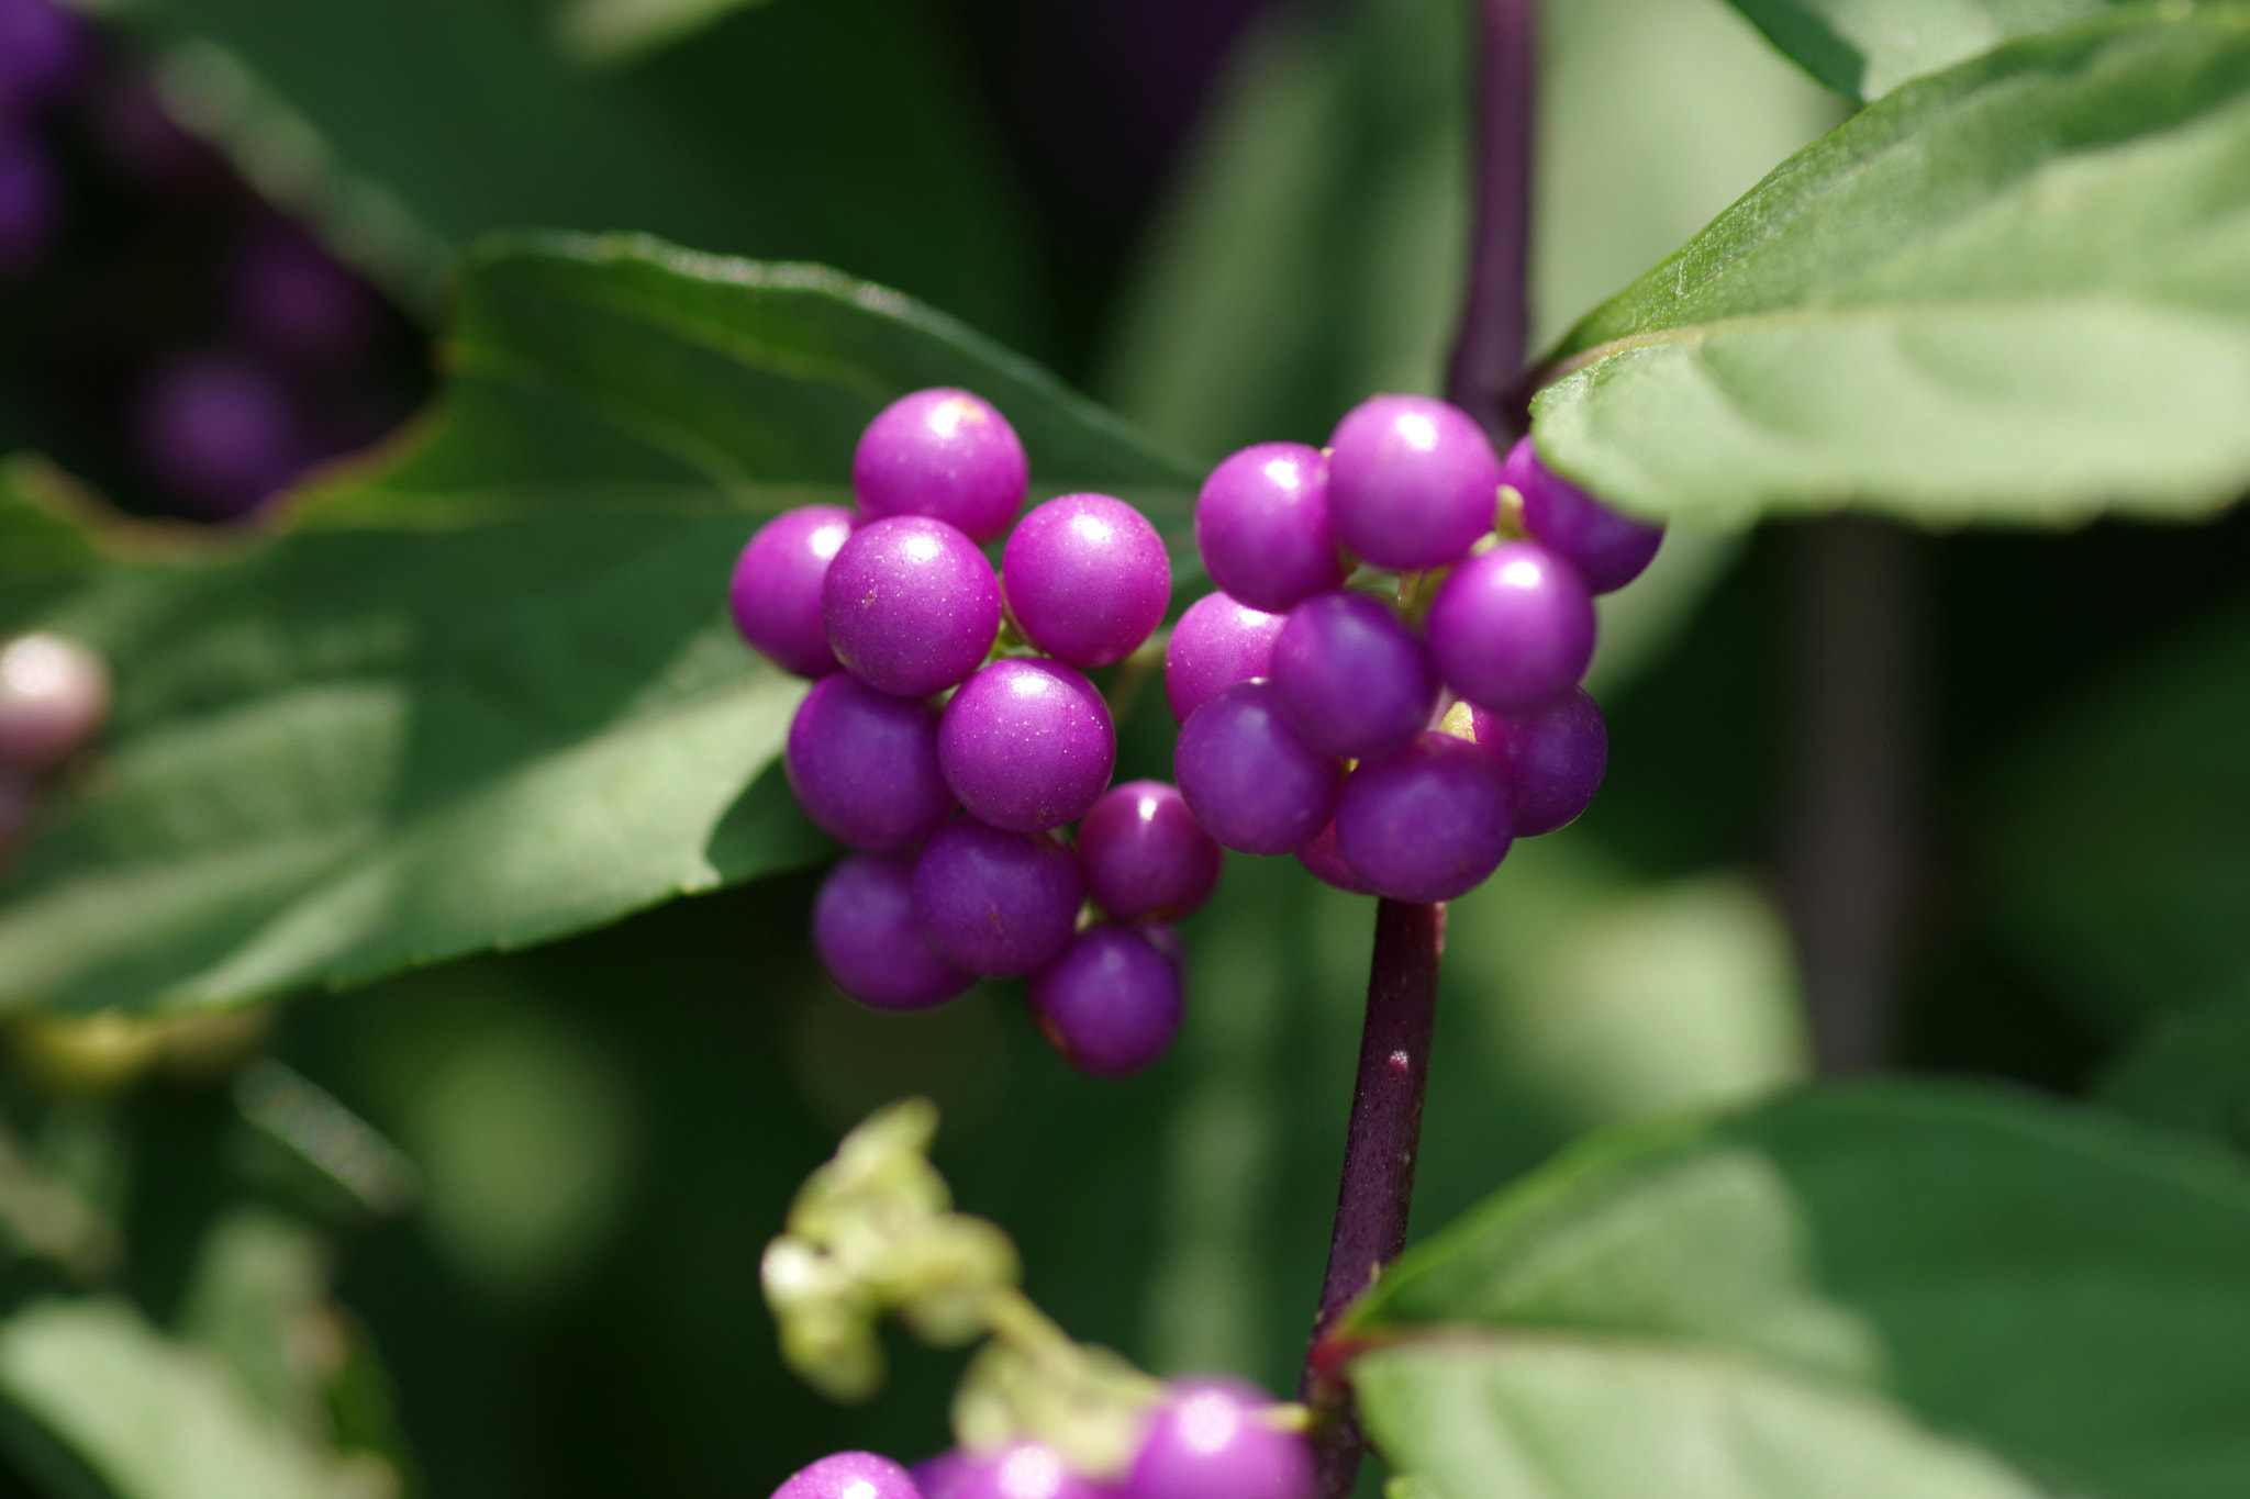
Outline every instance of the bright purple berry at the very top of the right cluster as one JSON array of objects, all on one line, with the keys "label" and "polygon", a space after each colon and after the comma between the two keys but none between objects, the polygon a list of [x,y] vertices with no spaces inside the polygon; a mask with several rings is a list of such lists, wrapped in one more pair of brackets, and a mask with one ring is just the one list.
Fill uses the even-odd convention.
[{"label": "bright purple berry at the very top of the right cluster", "polygon": [[1501,461],[1458,407],[1372,396],[1328,445],[1330,524],[1375,566],[1444,566],[1492,530]]}]

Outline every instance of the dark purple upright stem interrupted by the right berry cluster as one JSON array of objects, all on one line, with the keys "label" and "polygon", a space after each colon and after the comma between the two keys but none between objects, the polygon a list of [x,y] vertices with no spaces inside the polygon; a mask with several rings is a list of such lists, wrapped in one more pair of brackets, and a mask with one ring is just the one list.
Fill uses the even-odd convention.
[{"label": "dark purple upright stem interrupted by the right berry cluster", "polygon": [[[1526,431],[1519,387],[1532,321],[1539,4],[1480,0],[1478,22],[1476,218],[1469,294],[1447,369],[1447,400],[1505,443]],[[1321,1315],[1303,1382],[1303,1400],[1316,1416],[1312,1441],[1323,1499],[1346,1499],[1352,1492],[1366,1452],[1341,1362],[1325,1339],[1343,1308],[1406,1247],[1442,948],[1442,906],[1377,906],[1375,966],[1368,975],[1359,1081],[1343,1144],[1336,1227],[1328,1245],[1328,1279],[1321,1285]]]}]

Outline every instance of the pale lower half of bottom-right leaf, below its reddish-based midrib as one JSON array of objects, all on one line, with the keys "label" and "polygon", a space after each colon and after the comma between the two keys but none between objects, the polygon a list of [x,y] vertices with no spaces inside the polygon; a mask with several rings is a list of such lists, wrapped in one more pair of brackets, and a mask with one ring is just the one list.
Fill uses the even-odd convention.
[{"label": "pale lower half of bottom-right leaf, below its reddish-based midrib", "polygon": [[1462,1339],[1352,1364],[1418,1499],[2038,1499],[1888,1400],[1699,1351]]}]

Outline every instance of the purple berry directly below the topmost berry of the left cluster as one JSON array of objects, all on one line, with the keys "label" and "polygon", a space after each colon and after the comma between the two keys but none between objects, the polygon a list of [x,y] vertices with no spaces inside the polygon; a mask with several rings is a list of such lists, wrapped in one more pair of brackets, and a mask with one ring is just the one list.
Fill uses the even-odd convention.
[{"label": "purple berry directly below the topmost berry of the left cluster", "polygon": [[828,562],[821,623],[846,672],[878,692],[929,697],[968,681],[992,652],[999,578],[945,521],[871,521]]}]

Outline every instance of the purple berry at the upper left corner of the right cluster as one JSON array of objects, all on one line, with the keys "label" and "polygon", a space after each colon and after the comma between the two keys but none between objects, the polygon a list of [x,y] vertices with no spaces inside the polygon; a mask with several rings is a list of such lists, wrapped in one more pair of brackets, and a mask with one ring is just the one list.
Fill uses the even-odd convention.
[{"label": "purple berry at the upper left corner of the right cluster", "polygon": [[1260,443],[1210,470],[1195,501],[1195,546],[1226,593],[1276,614],[1343,584],[1328,524],[1328,458],[1303,443]]}]

